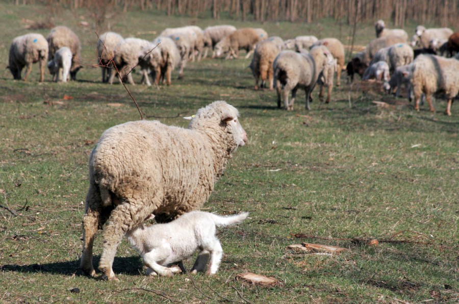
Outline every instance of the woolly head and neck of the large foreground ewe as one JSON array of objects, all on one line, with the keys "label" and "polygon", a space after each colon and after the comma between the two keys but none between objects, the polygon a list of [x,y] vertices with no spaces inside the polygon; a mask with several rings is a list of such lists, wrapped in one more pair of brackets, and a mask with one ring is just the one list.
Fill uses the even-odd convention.
[{"label": "woolly head and neck of the large foreground ewe", "polygon": [[230,152],[247,143],[247,133],[239,122],[238,110],[223,100],[199,109],[192,116],[188,129],[205,132],[214,138],[223,138]]}]

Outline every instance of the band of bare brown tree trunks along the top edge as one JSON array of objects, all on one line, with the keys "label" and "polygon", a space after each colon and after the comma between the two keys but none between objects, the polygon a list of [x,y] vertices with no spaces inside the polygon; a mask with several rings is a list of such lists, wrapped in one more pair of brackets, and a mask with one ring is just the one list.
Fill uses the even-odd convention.
[{"label": "band of bare brown tree trunks along the top edge", "polygon": [[256,21],[312,22],[333,17],[349,24],[384,19],[403,27],[405,20],[455,27],[459,23],[457,0],[15,0],[17,5],[56,4],[68,8],[163,10],[167,15],[210,14]]}]

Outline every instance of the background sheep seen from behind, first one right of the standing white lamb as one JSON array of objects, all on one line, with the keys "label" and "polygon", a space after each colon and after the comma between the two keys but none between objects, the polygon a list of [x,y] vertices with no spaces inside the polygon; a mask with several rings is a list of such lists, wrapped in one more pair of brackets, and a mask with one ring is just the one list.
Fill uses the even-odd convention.
[{"label": "background sheep seen from behind, first one right of the standing white lamb", "polygon": [[121,44],[123,37],[114,32],[107,32],[97,40],[97,64],[102,69],[102,82],[107,83],[112,74],[112,60],[115,58],[116,47]]}]

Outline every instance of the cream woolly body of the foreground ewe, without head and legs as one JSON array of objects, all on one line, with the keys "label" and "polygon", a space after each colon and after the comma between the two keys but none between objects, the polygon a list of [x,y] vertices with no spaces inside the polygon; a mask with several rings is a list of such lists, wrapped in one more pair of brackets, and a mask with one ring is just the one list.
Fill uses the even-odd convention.
[{"label": "cream woolly body of the foreground ewe, without head and legs", "polygon": [[118,197],[159,200],[158,213],[184,212],[201,207],[214,188],[211,152],[198,132],[159,121],[126,122],[100,137],[90,172]]}]

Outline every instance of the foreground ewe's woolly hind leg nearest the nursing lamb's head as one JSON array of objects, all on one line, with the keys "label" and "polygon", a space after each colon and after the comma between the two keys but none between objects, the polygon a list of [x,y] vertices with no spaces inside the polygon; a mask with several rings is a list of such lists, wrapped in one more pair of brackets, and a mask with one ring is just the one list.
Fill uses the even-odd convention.
[{"label": "foreground ewe's woolly hind leg nearest the nursing lamb's head", "polygon": [[104,278],[110,281],[117,280],[112,266],[118,246],[126,232],[141,224],[151,212],[149,206],[133,200],[124,201],[111,212],[104,229],[104,242],[99,261],[99,270],[104,272]]}]

